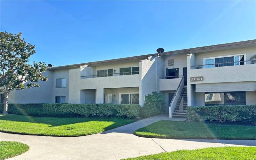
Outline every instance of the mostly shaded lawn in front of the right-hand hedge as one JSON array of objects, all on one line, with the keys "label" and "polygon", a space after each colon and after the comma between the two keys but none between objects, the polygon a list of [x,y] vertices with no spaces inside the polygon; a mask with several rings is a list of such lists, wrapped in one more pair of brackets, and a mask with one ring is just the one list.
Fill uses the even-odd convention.
[{"label": "mostly shaded lawn in front of the right-hand hedge", "polygon": [[134,132],[148,138],[255,140],[256,126],[158,121]]}]

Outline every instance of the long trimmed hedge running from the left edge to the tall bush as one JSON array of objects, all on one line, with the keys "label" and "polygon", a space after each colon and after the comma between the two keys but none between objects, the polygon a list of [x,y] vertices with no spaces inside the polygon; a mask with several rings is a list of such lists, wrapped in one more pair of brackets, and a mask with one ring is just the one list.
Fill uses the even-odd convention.
[{"label": "long trimmed hedge running from the left edge to the tall bush", "polygon": [[[0,108],[3,112],[3,105]],[[37,117],[138,117],[140,105],[132,104],[8,104],[8,113]]]}]

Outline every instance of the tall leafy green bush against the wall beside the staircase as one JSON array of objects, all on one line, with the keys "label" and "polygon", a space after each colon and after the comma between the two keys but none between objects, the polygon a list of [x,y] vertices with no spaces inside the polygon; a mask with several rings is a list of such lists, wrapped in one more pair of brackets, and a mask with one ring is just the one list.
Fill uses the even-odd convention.
[{"label": "tall leafy green bush against the wall beside the staircase", "polygon": [[140,108],[140,117],[146,118],[164,113],[164,96],[158,92],[152,92],[145,97],[145,103]]}]

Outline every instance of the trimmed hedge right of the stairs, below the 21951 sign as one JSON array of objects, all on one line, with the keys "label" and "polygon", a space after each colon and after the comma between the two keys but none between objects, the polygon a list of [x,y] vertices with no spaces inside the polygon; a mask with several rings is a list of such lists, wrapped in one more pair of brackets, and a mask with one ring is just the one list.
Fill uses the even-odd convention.
[{"label": "trimmed hedge right of the stairs, below the 21951 sign", "polygon": [[188,107],[187,114],[192,121],[244,121],[256,125],[256,105]]}]

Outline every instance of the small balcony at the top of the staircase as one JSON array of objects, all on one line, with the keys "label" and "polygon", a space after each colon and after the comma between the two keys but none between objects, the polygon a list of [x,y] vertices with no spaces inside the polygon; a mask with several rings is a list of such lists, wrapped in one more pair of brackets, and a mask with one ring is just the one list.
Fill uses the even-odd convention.
[{"label": "small balcony at the top of the staircase", "polygon": [[159,91],[175,91],[183,76],[159,77]]}]

